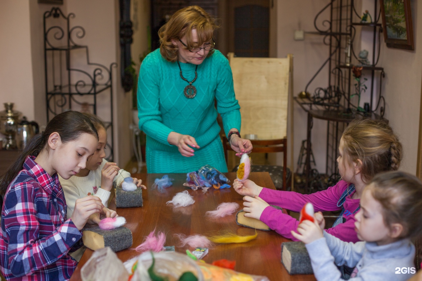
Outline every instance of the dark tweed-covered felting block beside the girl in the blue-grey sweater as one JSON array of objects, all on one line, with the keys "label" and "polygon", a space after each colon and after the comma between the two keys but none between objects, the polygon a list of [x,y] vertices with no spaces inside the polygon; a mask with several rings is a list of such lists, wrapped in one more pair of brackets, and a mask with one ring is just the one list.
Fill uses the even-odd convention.
[{"label": "dark tweed-covered felting block beside the girl in the blue-grey sweater", "polygon": [[290,275],[314,273],[305,244],[300,241],[281,243],[281,263]]}]

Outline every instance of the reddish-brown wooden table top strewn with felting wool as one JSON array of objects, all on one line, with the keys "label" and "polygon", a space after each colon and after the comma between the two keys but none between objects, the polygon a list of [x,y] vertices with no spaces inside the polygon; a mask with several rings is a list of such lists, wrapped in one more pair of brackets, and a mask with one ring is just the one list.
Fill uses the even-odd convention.
[{"label": "reddish-brown wooden table top strewn with felting wool", "polygon": [[[190,190],[195,203],[187,207],[174,208],[173,204],[166,205],[173,195],[183,190],[188,190],[183,186],[186,182],[186,174],[168,174],[173,178],[173,186],[159,193],[158,190],[151,190],[150,187],[156,178],[161,178],[163,174],[133,174],[133,177],[143,180],[143,184],[148,188],[143,193],[143,207],[139,208],[118,208],[117,213],[126,218],[128,227],[133,234],[133,245],[135,248],[143,242],[154,228],[156,231],[166,233],[166,246],[176,246],[176,252],[184,253],[188,246],[179,247],[180,241],[173,234],[182,233],[187,236],[201,234],[210,236],[221,231],[229,230],[238,235],[252,235],[255,230],[242,227],[235,222],[235,213],[229,217],[221,219],[210,219],[206,217],[206,211],[216,209],[222,202],[237,202],[243,206],[242,196],[236,193],[232,187],[229,189],[210,189],[203,194],[200,190]],[[235,173],[227,173],[231,183],[236,177]],[[260,186],[275,189],[270,175],[267,172],[251,173],[249,176]],[[239,209],[241,209],[241,207]],[[209,249],[204,261],[211,263],[214,260],[235,260],[235,270],[243,273],[267,276],[271,281],[296,280],[314,281],[313,275],[292,275],[290,276],[280,262],[280,244],[290,241],[277,234],[275,231],[258,230],[258,237],[243,244],[217,244]],[[70,281],[81,280],[80,269],[82,265],[91,257],[93,251],[87,249],[73,273]],[[117,256],[123,262],[139,253],[135,250],[126,249],[117,252]]]}]

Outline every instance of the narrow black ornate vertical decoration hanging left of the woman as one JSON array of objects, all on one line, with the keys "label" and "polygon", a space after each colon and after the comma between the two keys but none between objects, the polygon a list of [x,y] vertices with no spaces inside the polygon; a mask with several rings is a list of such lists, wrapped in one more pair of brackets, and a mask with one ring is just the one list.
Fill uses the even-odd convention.
[{"label": "narrow black ornate vertical decoration hanging left of the woman", "polygon": [[132,44],[132,21],[130,21],[130,0],[119,0],[120,5],[120,56],[121,76],[124,91],[128,92],[133,88],[133,74],[129,68],[132,65],[130,44]]}]

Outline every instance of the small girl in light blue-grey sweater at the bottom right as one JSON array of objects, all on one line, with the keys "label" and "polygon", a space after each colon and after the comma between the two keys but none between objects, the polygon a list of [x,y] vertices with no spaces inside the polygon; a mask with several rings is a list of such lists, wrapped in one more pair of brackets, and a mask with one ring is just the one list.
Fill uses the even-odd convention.
[{"label": "small girl in light blue-grey sweater at the bottom right", "polygon": [[393,171],[376,175],[365,187],[355,231],[362,242],[346,243],[323,231],[321,213],[303,221],[292,235],[306,244],[318,281],[343,280],[336,265],[354,268],[353,281],[404,281],[416,273],[415,247],[422,231],[422,183]]}]

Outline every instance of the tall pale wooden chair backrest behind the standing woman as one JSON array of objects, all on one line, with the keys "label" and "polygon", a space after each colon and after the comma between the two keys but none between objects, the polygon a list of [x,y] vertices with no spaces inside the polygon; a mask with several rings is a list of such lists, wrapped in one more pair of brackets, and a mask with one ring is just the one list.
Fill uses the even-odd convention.
[{"label": "tall pale wooden chair backrest behind the standing woman", "polygon": [[258,139],[287,136],[287,108],[292,55],[287,58],[245,58],[228,54],[233,82],[241,107],[242,137]]}]

